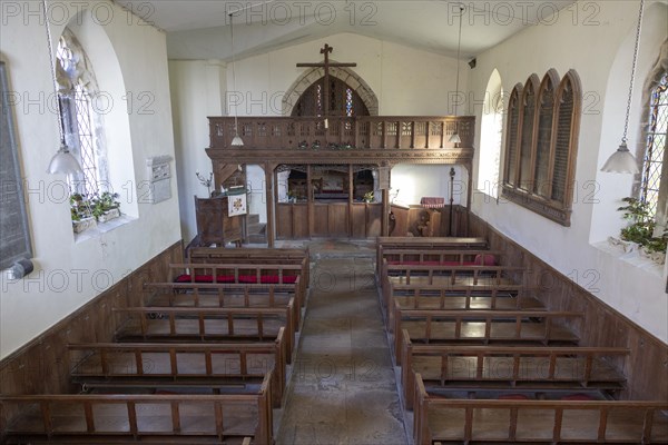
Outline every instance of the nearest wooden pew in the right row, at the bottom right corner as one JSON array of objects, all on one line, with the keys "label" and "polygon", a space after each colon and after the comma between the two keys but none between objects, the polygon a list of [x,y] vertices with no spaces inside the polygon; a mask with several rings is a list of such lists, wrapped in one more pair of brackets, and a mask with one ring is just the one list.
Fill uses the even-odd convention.
[{"label": "nearest wooden pew in the right row, at the bottom right corner", "polygon": [[453,399],[415,375],[415,445],[448,443],[665,444],[668,402]]}]

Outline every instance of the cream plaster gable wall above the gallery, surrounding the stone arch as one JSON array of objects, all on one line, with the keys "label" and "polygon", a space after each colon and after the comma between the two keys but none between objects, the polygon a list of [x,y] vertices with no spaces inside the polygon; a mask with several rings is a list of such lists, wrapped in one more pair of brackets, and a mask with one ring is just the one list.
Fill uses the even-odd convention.
[{"label": "cream plaster gable wall above the gallery, surrounding the stone arch", "polygon": [[[379,98],[380,115],[444,116],[455,90],[456,59],[352,33],[278,49],[236,61],[236,90],[245,98],[239,116],[279,116],[283,93],[304,72],[299,62],[322,61],[321,48],[334,47],[332,60],[356,62],[352,68]],[[469,68],[461,63],[460,89],[466,90]],[[232,76],[228,76],[232,90]],[[461,112],[462,110],[460,110]],[[461,112],[463,113],[463,112]]]}]

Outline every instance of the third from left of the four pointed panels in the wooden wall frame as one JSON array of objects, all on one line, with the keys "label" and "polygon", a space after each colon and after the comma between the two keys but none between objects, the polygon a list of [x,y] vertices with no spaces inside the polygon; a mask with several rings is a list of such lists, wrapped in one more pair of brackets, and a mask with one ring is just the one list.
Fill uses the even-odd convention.
[{"label": "third from left of the four pointed panels in the wooden wall frame", "polygon": [[552,148],[552,122],[554,118],[554,85],[557,72],[550,70],[543,78],[538,93],[538,140],[536,142],[536,170],[533,174],[533,192],[549,198],[550,155]]}]

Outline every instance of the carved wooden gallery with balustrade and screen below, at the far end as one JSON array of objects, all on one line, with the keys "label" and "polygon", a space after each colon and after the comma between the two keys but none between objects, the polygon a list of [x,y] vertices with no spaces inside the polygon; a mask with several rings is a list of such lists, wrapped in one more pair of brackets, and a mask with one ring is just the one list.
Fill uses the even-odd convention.
[{"label": "carved wooden gallery with balustrade and screen below, at the far end", "polygon": [[[426,207],[392,206],[391,170],[400,164],[462,166],[471,190],[474,117],[244,117],[236,128],[244,146],[232,145],[235,118],[209,118],[215,187],[246,185],[247,166],[264,170],[269,247],[287,239],[405,235]],[[461,144],[449,142],[453,132]],[[449,198],[441,200],[429,211],[439,214],[443,230],[430,235],[458,235],[465,224],[452,222]],[[468,192],[466,210],[470,204]],[[461,219],[468,211],[455,214]],[[462,229],[452,233],[453,225]]]}]

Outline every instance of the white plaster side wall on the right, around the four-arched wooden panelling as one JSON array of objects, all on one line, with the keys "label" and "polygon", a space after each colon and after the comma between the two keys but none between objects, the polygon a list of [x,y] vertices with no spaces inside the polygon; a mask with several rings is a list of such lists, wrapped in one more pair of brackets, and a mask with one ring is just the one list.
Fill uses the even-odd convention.
[{"label": "white plaster side wall on the right, around the four-arched wooden panelling", "polygon": [[[647,4],[635,105],[640,101],[642,72],[647,72],[666,38],[665,3]],[[502,198],[495,201],[480,194],[474,196],[473,211],[666,342],[668,296],[664,267],[620,258],[603,245],[590,244],[618,235],[622,221],[616,209],[619,199],[631,194],[630,176],[603,174],[599,168],[621,139],[639,3],[597,2],[595,17],[588,4],[578,2],[577,19],[569,10],[554,24],[531,27],[480,55],[469,79],[473,93],[482,97],[494,68],[505,91],[523,83],[532,72],[542,77],[550,68],[561,76],[571,68],[578,71],[584,96],[572,226],[562,227]],[[480,108],[475,115],[480,121]],[[640,111],[635,107],[629,147],[635,147],[639,119]],[[479,141],[480,134],[475,146]]]}]

